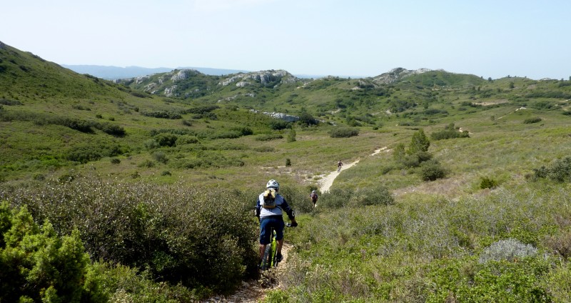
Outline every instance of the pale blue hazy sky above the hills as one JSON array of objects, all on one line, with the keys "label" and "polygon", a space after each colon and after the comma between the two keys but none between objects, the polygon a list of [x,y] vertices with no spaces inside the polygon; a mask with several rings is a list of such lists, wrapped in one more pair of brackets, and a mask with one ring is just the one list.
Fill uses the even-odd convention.
[{"label": "pale blue hazy sky above the hills", "polygon": [[569,0],[18,0],[0,41],[66,65],[570,79]]}]

